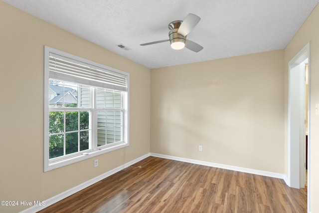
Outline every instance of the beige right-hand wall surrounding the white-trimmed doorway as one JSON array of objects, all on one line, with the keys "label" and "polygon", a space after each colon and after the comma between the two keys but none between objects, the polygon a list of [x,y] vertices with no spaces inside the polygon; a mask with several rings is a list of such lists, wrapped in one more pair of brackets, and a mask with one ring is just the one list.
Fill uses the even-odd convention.
[{"label": "beige right-hand wall surrounding the white-trimmed doorway", "polygon": [[[311,177],[311,212],[319,212],[319,115],[315,114],[315,105],[319,103],[319,5],[313,10],[298,33],[285,49],[285,109],[288,109],[288,62],[310,42],[310,177]],[[288,135],[288,110],[285,111],[285,135]],[[286,157],[288,159],[288,138],[285,140]],[[286,161],[286,174],[288,173],[288,162]]]}]

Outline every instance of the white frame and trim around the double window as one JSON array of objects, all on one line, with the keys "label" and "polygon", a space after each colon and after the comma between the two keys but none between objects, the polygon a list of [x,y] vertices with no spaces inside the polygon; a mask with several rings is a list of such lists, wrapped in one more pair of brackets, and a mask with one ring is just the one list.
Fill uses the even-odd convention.
[{"label": "white frame and trim around the double window", "polygon": [[[66,155],[63,157],[57,157],[57,158],[53,158],[53,159],[49,159],[49,55],[50,53],[56,54],[56,55],[60,55],[62,57],[65,58],[69,58],[71,60],[76,60],[88,65],[92,65],[93,67],[98,67],[99,69],[105,70],[108,73],[113,73],[113,74],[120,74],[120,75],[124,75],[127,78],[127,84],[126,84],[126,92],[123,92],[123,108],[124,108],[124,112],[123,112],[123,131],[122,131],[122,141],[121,142],[117,142],[114,144],[109,144],[109,145],[104,145],[104,146],[97,146],[97,110],[99,110],[99,108],[95,108],[93,107],[92,110],[92,105],[90,110],[92,110],[91,112],[91,140],[90,140],[90,145],[89,147],[91,149],[89,149],[88,151],[81,151],[78,153],[73,153],[70,155]],[[57,79],[59,80],[59,79]],[[64,80],[61,80],[64,81]],[[114,69],[112,67],[108,67],[99,63],[96,63],[94,61],[90,61],[48,46],[44,46],[44,167],[43,170],[44,172],[59,168],[59,167],[63,167],[69,164],[73,164],[88,158],[92,158],[104,153],[108,153],[117,149],[121,149],[124,147],[127,147],[130,145],[129,143],[129,82],[130,82],[130,75],[129,73],[126,73],[124,71],[121,70],[117,70]],[[75,83],[70,81],[70,83]],[[92,86],[92,85],[88,85],[88,86]],[[112,85],[110,85],[110,88],[107,87],[103,87],[106,89],[114,89],[112,87]],[[94,93],[91,91],[91,95],[92,98],[91,99],[95,99],[96,97],[94,97]],[[92,101],[94,102],[94,100]],[[77,108],[74,108],[75,110]]]}]

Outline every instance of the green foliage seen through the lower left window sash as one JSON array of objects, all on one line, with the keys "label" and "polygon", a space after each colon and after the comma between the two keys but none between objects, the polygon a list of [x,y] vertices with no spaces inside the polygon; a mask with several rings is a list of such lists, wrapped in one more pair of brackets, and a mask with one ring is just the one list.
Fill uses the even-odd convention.
[{"label": "green foliage seen through the lower left window sash", "polygon": [[[65,116],[65,117],[64,117]],[[80,125],[79,125],[80,117]],[[65,120],[65,133],[64,133]],[[78,131],[80,130],[84,131]],[[63,156],[64,153],[64,137],[65,137],[65,154],[78,152],[89,148],[89,113],[78,111],[65,112],[49,112],[49,133],[61,133],[51,135],[49,137],[49,158]],[[77,132],[70,132],[77,131]],[[80,136],[80,143],[78,137]]]}]

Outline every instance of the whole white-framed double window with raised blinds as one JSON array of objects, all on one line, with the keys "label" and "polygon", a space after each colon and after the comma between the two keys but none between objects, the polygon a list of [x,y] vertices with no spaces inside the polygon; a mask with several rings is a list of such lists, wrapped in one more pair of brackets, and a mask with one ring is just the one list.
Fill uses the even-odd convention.
[{"label": "whole white-framed double window with raised blinds", "polygon": [[129,74],[45,47],[44,171],[128,141]]}]

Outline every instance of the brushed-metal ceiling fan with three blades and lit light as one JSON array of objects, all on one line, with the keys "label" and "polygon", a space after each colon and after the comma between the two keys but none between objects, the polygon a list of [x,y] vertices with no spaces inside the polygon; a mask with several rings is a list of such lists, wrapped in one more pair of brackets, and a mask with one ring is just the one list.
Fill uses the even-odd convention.
[{"label": "brushed-metal ceiling fan with three blades and lit light", "polygon": [[200,17],[189,13],[183,21],[176,20],[168,24],[168,37],[169,39],[153,41],[149,43],[140,44],[141,46],[146,46],[150,44],[156,44],[161,42],[170,41],[170,46],[173,49],[182,49],[186,47],[194,52],[199,52],[203,49],[201,45],[195,43],[194,41],[186,39],[187,34],[197,25]]}]

